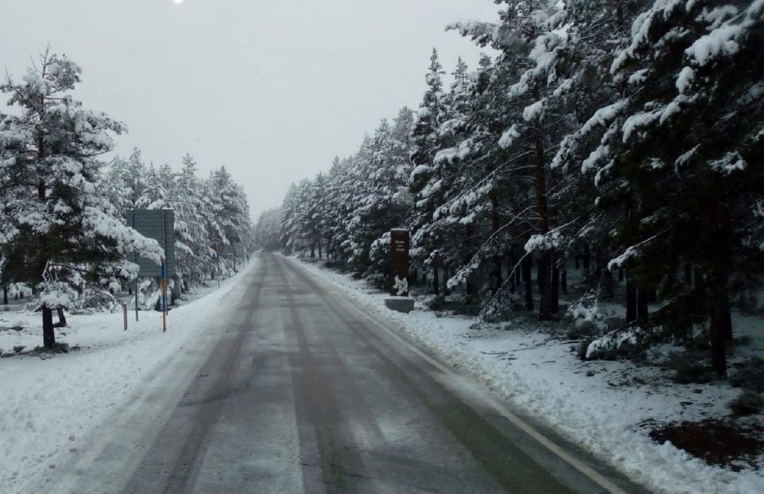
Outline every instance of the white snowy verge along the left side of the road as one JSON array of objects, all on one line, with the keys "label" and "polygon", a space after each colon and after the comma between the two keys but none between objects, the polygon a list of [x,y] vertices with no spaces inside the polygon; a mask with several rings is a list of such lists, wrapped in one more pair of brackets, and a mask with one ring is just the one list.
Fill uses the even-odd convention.
[{"label": "white snowy verge along the left side of the road", "polygon": [[[255,260],[219,290],[170,311],[167,333],[160,313],[71,315],[69,327],[57,330],[57,341],[70,353],[54,356],[14,355],[0,359],[0,486],[23,492],[24,486],[86,450],[85,438],[112,411],[125,404],[141,385],[183,346],[202,333],[237,298],[234,289],[251,272]],[[40,315],[0,312],[0,349],[33,349],[42,343]],[[21,327],[21,330],[12,328]]]}]

